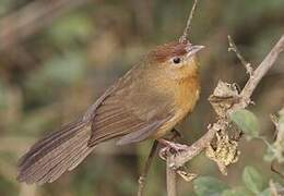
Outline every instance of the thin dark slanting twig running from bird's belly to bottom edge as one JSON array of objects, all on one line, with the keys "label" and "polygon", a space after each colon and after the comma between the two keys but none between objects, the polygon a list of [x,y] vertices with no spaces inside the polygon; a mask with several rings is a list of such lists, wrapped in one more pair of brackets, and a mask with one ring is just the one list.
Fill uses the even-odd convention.
[{"label": "thin dark slanting twig running from bird's belly to bottom edge", "polygon": [[158,142],[157,140],[154,140],[153,145],[152,145],[152,148],[150,150],[150,154],[149,154],[149,157],[146,159],[146,163],[143,168],[143,171],[139,177],[139,187],[138,187],[138,196],[142,196],[143,193],[144,193],[144,187],[145,187],[145,184],[146,184],[146,177],[147,177],[147,174],[149,174],[149,170],[151,168],[151,164],[153,162],[153,159],[157,152],[157,146],[158,146]]}]

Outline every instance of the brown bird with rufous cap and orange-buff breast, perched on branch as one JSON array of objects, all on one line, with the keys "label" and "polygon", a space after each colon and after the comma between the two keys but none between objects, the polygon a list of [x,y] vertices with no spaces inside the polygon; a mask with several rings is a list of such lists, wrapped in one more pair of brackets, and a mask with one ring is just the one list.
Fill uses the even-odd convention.
[{"label": "brown bird with rufous cap and orange-buff breast, perched on branch", "polygon": [[158,139],[190,113],[200,94],[196,53],[203,46],[169,42],[149,52],[110,86],[78,121],[37,142],[20,161],[17,180],[51,183],[73,170],[94,148]]}]

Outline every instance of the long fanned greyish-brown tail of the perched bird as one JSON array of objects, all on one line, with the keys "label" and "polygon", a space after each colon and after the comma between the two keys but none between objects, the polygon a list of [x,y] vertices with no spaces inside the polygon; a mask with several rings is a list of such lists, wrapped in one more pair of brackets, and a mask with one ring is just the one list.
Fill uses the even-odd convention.
[{"label": "long fanned greyish-brown tail of the perched bird", "polygon": [[17,180],[27,184],[54,182],[93,150],[87,146],[90,135],[88,122],[80,120],[46,136],[21,159]]}]

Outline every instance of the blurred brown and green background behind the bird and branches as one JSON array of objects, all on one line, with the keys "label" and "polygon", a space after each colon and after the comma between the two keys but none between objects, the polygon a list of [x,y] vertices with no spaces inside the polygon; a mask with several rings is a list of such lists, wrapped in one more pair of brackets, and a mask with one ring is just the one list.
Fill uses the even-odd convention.
[{"label": "blurred brown and green background behind the bird and branches", "polygon": [[[15,181],[17,159],[43,135],[82,114],[114,81],[145,52],[181,35],[191,0],[0,0],[0,195],[125,196],[135,195],[139,173],[151,142],[117,148],[100,145],[74,171],[40,187]],[[182,143],[205,132],[214,112],[208,97],[218,79],[237,83],[248,76],[227,51],[232,35],[244,57],[257,66],[284,33],[283,0],[200,0],[191,41],[206,46],[200,53],[202,94],[194,112],[182,122]],[[261,134],[273,138],[270,113],[284,103],[284,56],[253,94],[250,109]],[[275,177],[263,161],[265,146],[240,142],[239,161],[222,176],[203,155],[188,163],[238,187],[246,166],[265,182]],[[194,195],[192,183],[179,181],[179,195]],[[166,194],[165,162],[156,158],[146,195]]]}]

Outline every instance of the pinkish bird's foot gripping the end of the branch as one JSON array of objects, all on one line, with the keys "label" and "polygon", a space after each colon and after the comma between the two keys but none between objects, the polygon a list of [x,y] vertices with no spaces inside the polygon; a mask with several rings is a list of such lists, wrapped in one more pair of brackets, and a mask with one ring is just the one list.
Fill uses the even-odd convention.
[{"label": "pinkish bird's foot gripping the end of the branch", "polygon": [[165,146],[164,148],[162,148],[159,150],[159,154],[158,154],[159,157],[164,160],[166,159],[168,154],[178,154],[180,151],[185,151],[188,148],[187,145],[173,143],[173,142],[169,142],[169,140],[166,140],[166,139],[163,139],[163,138],[159,138],[157,140],[158,140],[158,143],[161,143]]}]

